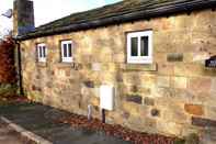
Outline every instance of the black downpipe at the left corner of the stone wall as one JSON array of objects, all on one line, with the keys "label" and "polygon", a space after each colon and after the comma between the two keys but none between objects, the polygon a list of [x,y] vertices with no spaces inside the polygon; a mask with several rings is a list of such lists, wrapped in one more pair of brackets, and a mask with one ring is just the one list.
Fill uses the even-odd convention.
[{"label": "black downpipe at the left corner of the stone wall", "polygon": [[20,95],[23,96],[23,77],[22,77],[22,59],[21,59],[21,47],[20,43],[15,40],[15,44],[18,47],[18,73],[19,73],[19,87],[20,87]]}]

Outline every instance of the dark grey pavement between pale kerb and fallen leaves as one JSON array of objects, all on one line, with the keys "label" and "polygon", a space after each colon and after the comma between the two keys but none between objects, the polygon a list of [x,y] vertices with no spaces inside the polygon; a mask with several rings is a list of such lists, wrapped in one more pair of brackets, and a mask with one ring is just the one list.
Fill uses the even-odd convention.
[{"label": "dark grey pavement between pale kerb and fallen leaves", "polygon": [[75,130],[69,124],[56,123],[57,119],[67,114],[66,111],[38,103],[0,106],[0,115],[54,144],[130,144],[103,132]]}]

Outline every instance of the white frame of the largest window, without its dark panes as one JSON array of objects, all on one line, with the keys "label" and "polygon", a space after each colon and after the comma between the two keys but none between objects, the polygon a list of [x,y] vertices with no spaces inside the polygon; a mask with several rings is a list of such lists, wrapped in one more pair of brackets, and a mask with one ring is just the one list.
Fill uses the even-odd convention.
[{"label": "white frame of the largest window, without its dark panes", "polygon": [[[148,36],[148,56],[140,56],[141,36]],[[138,38],[138,56],[132,56],[132,37]],[[127,33],[127,63],[128,64],[152,64],[152,31]]]}]

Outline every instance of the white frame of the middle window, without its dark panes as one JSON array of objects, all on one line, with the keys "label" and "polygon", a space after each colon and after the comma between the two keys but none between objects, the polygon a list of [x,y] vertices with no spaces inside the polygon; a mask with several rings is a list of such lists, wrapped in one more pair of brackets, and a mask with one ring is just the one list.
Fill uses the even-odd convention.
[{"label": "white frame of the middle window, without its dark panes", "polygon": [[[60,44],[60,46],[61,46],[61,48],[60,48],[60,51],[61,51],[61,62],[64,62],[64,63],[71,63],[71,62],[73,62],[73,43],[72,43],[72,41],[61,41],[60,42],[61,44]],[[65,44],[67,44],[67,53],[66,53],[66,57],[65,57],[65,55],[64,55],[64,45]],[[69,56],[69,52],[68,52],[68,44],[71,44],[71,56]]]}]

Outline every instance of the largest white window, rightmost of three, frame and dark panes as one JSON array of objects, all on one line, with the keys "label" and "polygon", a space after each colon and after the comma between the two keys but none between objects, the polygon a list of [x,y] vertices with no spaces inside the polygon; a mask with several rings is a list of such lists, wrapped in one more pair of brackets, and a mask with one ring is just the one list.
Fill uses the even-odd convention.
[{"label": "largest white window, rightmost of three, frame and dark panes", "polygon": [[127,34],[127,63],[152,63],[152,31]]}]

